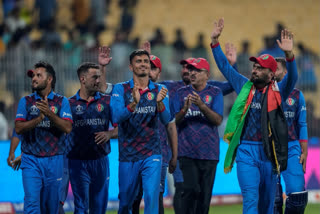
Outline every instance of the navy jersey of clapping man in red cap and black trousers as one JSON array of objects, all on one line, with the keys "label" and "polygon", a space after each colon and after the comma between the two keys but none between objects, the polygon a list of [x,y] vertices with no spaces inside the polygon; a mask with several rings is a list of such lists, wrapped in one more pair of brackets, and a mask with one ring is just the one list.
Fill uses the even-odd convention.
[{"label": "navy jersey of clapping man in red cap and black trousers", "polygon": [[[174,99],[174,112],[182,109],[185,99],[195,91],[191,85],[180,88]],[[214,112],[223,116],[223,95],[218,87],[206,85],[202,91],[195,91],[201,100]],[[220,138],[218,127],[213,125],[192,104],[178,125],[178,154],[179,157],[189,157],[203,160],[219,160]]]}]

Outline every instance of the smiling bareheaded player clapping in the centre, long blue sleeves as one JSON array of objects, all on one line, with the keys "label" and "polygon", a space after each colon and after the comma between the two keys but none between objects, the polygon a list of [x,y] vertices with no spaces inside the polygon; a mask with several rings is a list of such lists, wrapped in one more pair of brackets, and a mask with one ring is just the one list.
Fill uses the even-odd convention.
[{"label": "smiling bareheaded player clapping in the centre, long blue sleeves", "polygon": [[119,132],[119,211],[131,213],[142,182],[145,213],[158,213],[161,147],[158,120],[171,119],[167,89],[149,80],[150,56],[145,50],[130,55],[133,79],[114,86],[112,118]]}]

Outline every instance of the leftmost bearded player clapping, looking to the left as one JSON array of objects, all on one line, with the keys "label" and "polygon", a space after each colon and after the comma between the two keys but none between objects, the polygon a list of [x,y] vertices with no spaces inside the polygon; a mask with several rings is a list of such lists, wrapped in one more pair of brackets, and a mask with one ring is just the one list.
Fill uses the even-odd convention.
[{"label": "leftmost bearded player clapping, looking to the left", "polygon": [[70,105],[53,92],[56,75],[49,63],[36,63],[28,75],[35,92],[19,101],[15,122],[23,152],[24,212],[58,213],[65,136],[72,129]]}]

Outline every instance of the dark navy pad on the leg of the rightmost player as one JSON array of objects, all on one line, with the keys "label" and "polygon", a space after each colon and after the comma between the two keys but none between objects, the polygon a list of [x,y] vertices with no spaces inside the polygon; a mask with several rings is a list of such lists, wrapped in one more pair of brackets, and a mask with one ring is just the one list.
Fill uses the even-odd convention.
[{"label": "dark navy pad on the leg of the rightmost player", "polygon": [[294,192],[288,195],[285,214],[303,214],[308,203],[308,192]]}]

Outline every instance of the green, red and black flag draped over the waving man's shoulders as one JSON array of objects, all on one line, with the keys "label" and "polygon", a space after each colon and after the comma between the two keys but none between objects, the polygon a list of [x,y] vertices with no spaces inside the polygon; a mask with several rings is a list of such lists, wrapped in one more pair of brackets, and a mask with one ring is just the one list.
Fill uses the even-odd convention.
[{"label": "green, red and black flag draped over the waving man's shoulders", "polygon": [[[229,144],[224,161],[225,173],[230,172],[233,167],[243,125],[255,91],[253,83],[246,82],[232,106],[223,137]],[[281,108],[279,88],[273,81],[263,91],[261,128],[264,152],[274,169],[280,173],[287,167],[288,127]]]}]

